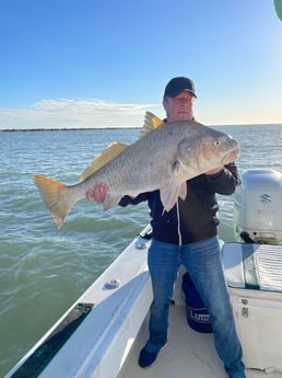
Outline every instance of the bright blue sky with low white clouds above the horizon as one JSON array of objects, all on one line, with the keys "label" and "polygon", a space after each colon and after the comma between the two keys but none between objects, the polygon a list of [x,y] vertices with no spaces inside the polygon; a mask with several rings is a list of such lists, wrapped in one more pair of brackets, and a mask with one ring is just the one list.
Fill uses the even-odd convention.
[{"label": "bright blue sky with low white clouds above the horizon", "polygon": [[0,129],[140,127],[169,79],[205,125],[282,124],[273,0],[0,0]]}]

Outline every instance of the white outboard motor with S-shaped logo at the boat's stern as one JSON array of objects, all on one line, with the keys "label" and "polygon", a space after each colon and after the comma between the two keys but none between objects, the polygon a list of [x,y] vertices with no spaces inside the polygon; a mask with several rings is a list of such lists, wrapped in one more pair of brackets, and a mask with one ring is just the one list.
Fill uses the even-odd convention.
[{"label": "white outboard motor with S-shaped logo at the boat's stern", "polygon": [[242,174],[234,201],[237,241],[282,244],[282,173],[270,169]]}]

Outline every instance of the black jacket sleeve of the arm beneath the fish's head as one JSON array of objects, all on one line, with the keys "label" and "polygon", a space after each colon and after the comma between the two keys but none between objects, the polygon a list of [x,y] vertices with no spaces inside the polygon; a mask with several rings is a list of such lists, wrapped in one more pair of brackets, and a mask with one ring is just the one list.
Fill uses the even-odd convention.
[{"label": "black jacket sleeve of the arm beneath the fish's head", "polygon": [[214,193],[231,195],[240,184],[239,174],[236,164],[224,165],[219,173],[207,175],[208,184]]}]

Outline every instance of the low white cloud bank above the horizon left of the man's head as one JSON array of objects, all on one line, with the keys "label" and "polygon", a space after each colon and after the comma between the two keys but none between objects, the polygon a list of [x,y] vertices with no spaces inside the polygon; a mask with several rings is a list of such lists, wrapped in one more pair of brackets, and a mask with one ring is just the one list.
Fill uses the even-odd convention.
[{"label": "low white cloud bank above the horizon left of the man's head", "polygon": [[0,128],[137,127],[160,104],[126,104],[96,99],[40,100],[24,108],[0,108]]}]

